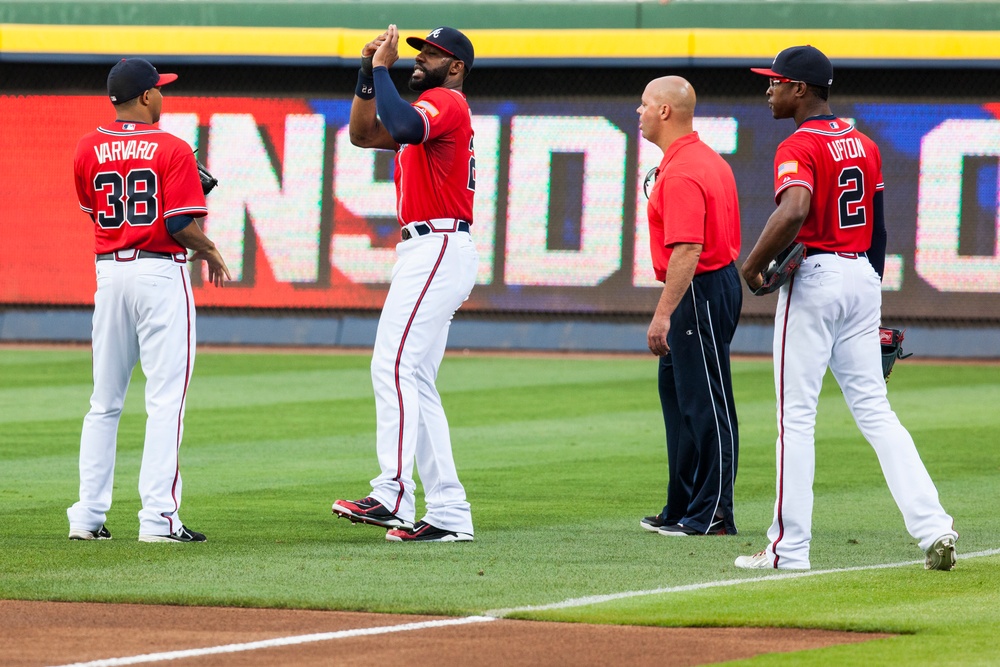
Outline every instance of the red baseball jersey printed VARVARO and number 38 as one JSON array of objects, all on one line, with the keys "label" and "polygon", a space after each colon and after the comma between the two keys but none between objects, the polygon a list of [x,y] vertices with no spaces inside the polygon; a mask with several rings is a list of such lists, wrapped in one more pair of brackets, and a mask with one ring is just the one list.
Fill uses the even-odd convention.
[{"label": "red baseball jersey printed VARVARO and number 38", "polygon": [[80,139],[73,160],[80,208],[94,221],[94,252],[181,253],[165,220],[208,213],[191,146],[154,125],[115,121]]}]

